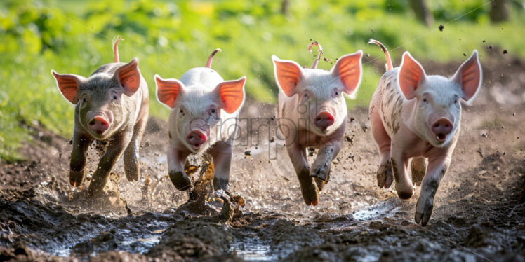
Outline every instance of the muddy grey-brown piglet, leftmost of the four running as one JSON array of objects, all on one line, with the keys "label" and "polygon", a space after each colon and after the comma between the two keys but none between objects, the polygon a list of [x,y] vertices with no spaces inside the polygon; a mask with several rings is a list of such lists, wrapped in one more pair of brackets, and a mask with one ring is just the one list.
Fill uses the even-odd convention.
[{"label": "muddy grey-brown piglet, leftmost of the four running", "polygon": [[60,93],[75,104],[69,170],[72,186],[80,186],[84,181],[86,151],[91,142],[109,142],[93,173],[89,195],[102,191],[122,153],[128,180],[139,178],[139,145],[147,123],[149,95],[137,58],[127,64],[119,62],[117,45],[120,40],[113,44],[114,63],[102,65],[88,78],[51,70]]}]

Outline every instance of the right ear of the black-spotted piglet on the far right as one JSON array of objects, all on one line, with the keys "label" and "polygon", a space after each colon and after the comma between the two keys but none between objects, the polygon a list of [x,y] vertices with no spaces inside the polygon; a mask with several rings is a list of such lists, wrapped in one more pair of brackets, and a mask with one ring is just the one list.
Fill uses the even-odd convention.
[{"label": "right ear of the black-spotted piglet on the far right", "polygon": [[453,80],[461,85],[463,99],[465,99],[465,101],[470,101],[470,99],[476,96],[481,86],[482,77],[477,50],[474,50],[469,59],[461,64],[453,76]]}]

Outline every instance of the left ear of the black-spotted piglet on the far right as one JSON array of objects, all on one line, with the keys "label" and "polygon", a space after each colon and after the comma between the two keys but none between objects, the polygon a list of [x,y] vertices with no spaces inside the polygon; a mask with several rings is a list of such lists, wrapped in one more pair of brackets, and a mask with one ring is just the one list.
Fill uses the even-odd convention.
[{"label": "left ear of the black-spotted piglet on the far right", "polygon": [[399,69],[398,81],[399,88],[406,99],[412,99],[415,96],[414,91],[423,80],[425,80],[425,69],[413,59],[410,53],[405,52]]}]

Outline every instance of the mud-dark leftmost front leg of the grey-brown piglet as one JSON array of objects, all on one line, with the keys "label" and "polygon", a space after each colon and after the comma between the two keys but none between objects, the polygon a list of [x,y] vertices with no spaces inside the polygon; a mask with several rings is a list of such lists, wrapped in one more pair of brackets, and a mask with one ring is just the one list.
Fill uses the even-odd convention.
[{"label": "mud-dark leftmost front leg of the grey-brown piglet", "polygon": [[71,161],[69,162],[69,183],[77,187],[82,184],[86,175],[86,151],[88,151],[91,139],[79,134],[73,133],[73,151]]}]

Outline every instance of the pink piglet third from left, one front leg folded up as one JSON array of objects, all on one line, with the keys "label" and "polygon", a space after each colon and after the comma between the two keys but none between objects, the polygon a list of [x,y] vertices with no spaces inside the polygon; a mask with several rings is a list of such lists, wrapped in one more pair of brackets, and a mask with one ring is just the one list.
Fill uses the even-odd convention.
[{"label": "pink piglet third from left, one front leg folded up", "polygon": [[[317,42],[312,44],[319,46]],[[319,46],[319,55],[311,69],[272,56],[279,86],[279,130],[284,136],[306,205],[318,204],[319,190],[330,177],[331,162],[340,151],[347,124],[343,93],[354,95],[362,71],[361,50],[340,57],[331,71],[316,68],[321,53]],[[319,149],[311,168],[306,157],[307,147]]]}]

